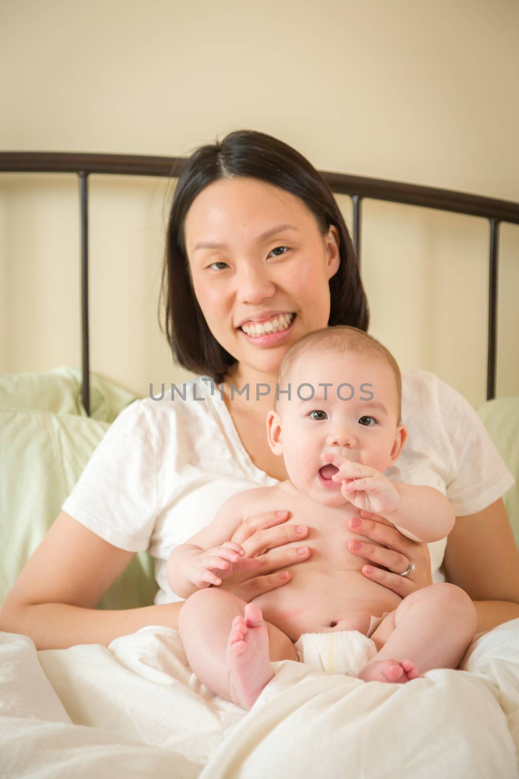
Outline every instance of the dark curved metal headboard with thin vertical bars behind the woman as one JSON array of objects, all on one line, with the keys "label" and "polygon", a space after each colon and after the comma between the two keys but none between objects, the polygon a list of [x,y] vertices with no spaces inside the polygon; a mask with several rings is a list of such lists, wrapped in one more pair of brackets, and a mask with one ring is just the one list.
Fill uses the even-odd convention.
[{"label": "dark curved metal headboard with thin vertical bars behind the woman", "polygon": [[[90,414],[89,305],[88,305],[88,177],[89,174],[163,176],[177,178],[184,167],[182,157],[148,157],[132,154],[87,154],[58,152],[0,152],[0,172],[75,173],[79,177],[81,204],[81,299],[82,299],[82,402]],[[496,322],[499,226],[519,224],[519,203],[498,200],[450,189],[388,182],[343,173],[320,171],[332,192],[348,195],[353,205],[353,244],[360,256],[363,199],[386,200],[409,206],[423,206],[489,220],[489,320],[486,372],[487,400],[496,395]]]}]

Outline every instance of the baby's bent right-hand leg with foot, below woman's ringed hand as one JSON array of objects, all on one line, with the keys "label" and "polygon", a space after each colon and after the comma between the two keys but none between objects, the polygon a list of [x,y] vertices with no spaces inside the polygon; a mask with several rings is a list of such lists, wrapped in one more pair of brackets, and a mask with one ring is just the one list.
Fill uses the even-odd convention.
[{"label": "baby's bent right-hand leg with foot, below woman's ringed hand", "polygon": [[359,679],[408,682],[433,668],[458,668],[477,624],[468,594],[447,582],[416,590],[394,615],[395,630]]}]

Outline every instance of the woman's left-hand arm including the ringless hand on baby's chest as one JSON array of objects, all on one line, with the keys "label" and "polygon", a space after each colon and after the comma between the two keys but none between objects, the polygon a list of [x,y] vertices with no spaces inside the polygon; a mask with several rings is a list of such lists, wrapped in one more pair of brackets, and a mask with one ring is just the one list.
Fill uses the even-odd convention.
[{"label": "woman's left-hand arm including the ringless hand on baby's chest", "polygon": [[[285,524],[288,517],[288,513],[280,519],[275,512],[266,512],[247,520],[247,551],[260,565],[254,572],[241,571],[233,581],[223,582],[228,591],[247,603],[289,582],[290,575],[284,578],[273,571],[310,556],[310,551],[297,555],[291,547],[275,549],[307,534],[298,534],[292,523]],[[265,543],[272,551],[263,553]],[[0,631],[29,636],[40,650],[66,649],[78,643],[107,647],[119,636],[148,625],[178,629],[178,613],[185,601],[121,611],[95,608],[134,555],[104,541],[61,511],[6,597],[0,611]]]}]

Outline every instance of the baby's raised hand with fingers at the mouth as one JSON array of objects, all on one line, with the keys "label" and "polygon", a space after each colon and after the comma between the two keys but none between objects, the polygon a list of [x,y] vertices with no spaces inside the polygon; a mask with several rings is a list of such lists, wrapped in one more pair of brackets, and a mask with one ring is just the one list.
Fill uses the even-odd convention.
[{"label": "baby's raised hand with fingers at the mouth", "polygon": [[398,509],[400,493],[391,479],[380,471],[331,452],[322,454],[321,460],[338,467],[331,481],[342,481],[342,495],[357,509],[380,516],[389,516]]}]

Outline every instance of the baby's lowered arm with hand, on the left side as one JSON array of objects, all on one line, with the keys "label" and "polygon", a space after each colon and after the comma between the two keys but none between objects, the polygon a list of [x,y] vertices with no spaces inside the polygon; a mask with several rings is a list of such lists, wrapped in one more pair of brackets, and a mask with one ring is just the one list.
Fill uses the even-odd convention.
[{"label": "baby's lowered arm with hand, on the left side", "polygon": [[[245,490],[226,500],[212,523],[174,548],[166,565],[167,583],[181,597],[188,598],[197,590],[219,583],[237,571],[257,568],[259,560],[247,558],[239,544],[229,541],[244,520]],[[221,566],[221,567],[220,567]],[[216,576],[218,571],[218,576]]]}]

